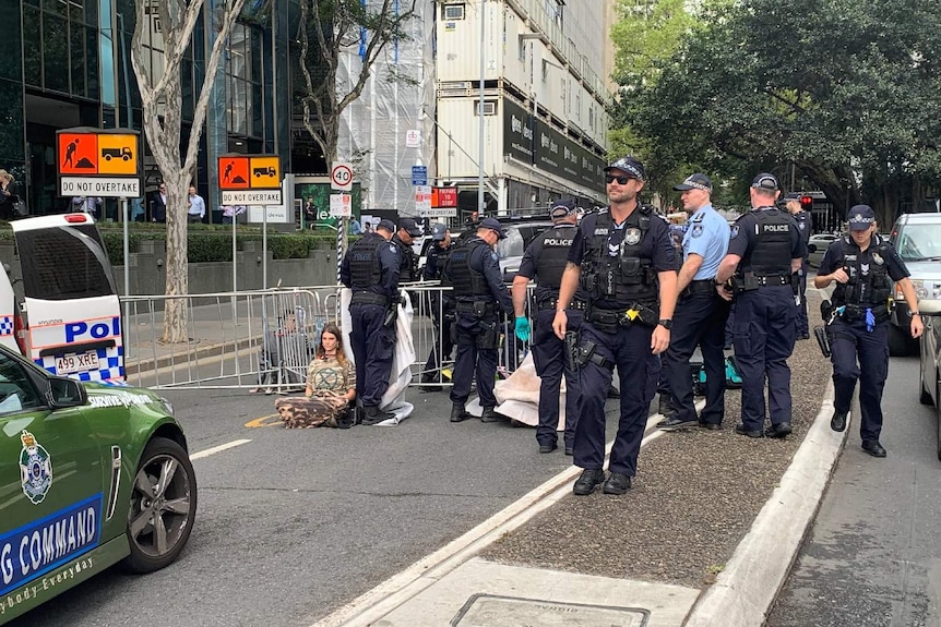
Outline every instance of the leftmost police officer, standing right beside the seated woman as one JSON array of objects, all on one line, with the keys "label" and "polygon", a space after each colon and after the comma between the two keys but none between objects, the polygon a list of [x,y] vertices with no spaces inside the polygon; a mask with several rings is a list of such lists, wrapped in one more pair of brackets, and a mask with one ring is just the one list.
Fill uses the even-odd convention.
[{"label": "leftmost police officer, standing right beside the seated woman", "polygon": [[389,388],[395,347],[392,312],[400,298],[401,250],[390,241],[393,231],[395,225],[391,220],[380,220],[376,232],[366,233],[349,246],[340,268],[341,281],[353,290],[349,341],[356,360],[356,395],[366,425],[391,418],[379,411],[379,402]]}]

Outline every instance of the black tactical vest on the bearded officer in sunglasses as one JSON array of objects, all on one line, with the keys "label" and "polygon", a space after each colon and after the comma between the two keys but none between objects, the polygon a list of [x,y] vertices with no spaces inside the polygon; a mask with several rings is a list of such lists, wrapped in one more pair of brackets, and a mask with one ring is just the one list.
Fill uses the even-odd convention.
[{"label": "black tactical vest on the bearded officer in sunglasses", "polygon": [[631,214],[616,256],[608,254],[608,236],[615,230],[611,214],[598,214],[595,232],[585,240],[581,276],[582,287],[593,300],[617,301],[624,306],[635,302],[651,308],[656,304],[656,273],[651,260],[641,256],[652,214],[653,208],[647,205]]}]

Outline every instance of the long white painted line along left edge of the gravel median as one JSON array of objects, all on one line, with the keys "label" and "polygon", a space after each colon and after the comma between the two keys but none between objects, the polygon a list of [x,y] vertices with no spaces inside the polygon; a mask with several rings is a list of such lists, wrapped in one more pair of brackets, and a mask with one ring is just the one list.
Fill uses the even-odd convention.
[{"label": "long white painted line along left edge of the gravel median", "polygon": [[[704,401],[696,402],[702,409]],[[663,415],[654,413],[647,419],[646,431],[654,429],[641,442],[641,447],[660,437],[664,431],[656,429]],[[605,459],[611,453],[614,439],[605,447]],[[572,466],[552,477],[538,487],[523,495],[519,501],[504,507],[464,535],[456,538],[436,551],[393,575],[372,590],[365,592],[311,627],[340,627],[342,625],[367,626],[385,616],[403,603],[413,599],[448,572],[483,551],[500,536],[522,527],[534,516],[550,507],[562,497],[572,493],[570,484],[582,469]]]}]

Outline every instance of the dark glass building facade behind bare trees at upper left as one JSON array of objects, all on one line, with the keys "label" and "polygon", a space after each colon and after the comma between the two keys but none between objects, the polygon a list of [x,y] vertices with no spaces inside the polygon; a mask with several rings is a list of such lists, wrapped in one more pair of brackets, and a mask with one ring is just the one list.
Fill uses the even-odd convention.
[{"label": "dark glass building facade behind bare trees at upper left", "polygon": [[[0,0],[0,168],[32,215],[65,210],[56,186],[56,131],[70,126],[143,131],[141,97],[131,65],[136,5],[143,3],[144,58],[163,72],[159,0]],[[223,0],[205,0],[181,67],[183,132],[204,81],[205,59]],[[275,68],[287,67],[288,0],[248,0],[213,77],[195,183],[210,207],[218,204],[216,157],[228,152],[275,153],[290,171],[290,87]],[[145,148],[144,189],[160,174]],[[114,217],[114,204],[106,216]]]}]

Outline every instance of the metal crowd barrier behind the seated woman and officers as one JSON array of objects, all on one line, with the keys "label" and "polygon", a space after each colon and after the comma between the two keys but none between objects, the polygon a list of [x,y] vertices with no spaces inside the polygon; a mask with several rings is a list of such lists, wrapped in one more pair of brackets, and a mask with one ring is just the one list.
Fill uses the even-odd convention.
[{"label": "metal crowd barrier behind the seated woman and officers", "polygon": [[[402,286],[413,304],[415,362],[413,385],[444,387],[451,384],[456,343],[440,351],[444,299],[451,291],[438,281]],[[532,296],[532,291],[529,292]],[[162,342],[163,312],[167,301],[183,300],[188,341]],[[532,298],[527,298],[527,315]],[[320,331],[327,322],[340,324],[340,299],[334,286],[312,286],[266,291],[218,292],[187,297],[127,297],[124,366],[131,385],[164,388],[262,388],[290,391],[303,388]],[[532,316],[531,316],[531,319]],[[512,373],[529,350],[514,334],[513,316],[501,325],[498,374]],[[422,381],[424,379],[424,381]],[[430,379],[430,381],[429,381]]]}]

